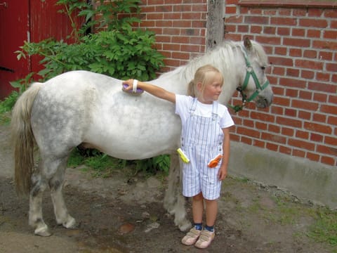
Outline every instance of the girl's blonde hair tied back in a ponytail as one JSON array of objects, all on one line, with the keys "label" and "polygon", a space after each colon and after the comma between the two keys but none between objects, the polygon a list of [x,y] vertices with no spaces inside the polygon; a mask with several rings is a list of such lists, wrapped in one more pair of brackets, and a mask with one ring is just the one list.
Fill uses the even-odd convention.
[{"label": "girl's blonde hair tied back in a ponytail", "polygon": [[[211,83],[216,75],[220,75],[220,84],[223,85],[223,74],[213,65],[204,65],[199,67],[194,74],[194,79],[190,81],[187,88],[187,95],[197,98],[198,96],[202,96],[204,93],[204,89],[206,84]],[[201,83],[201,89],[198,91],[197,84]]]}]

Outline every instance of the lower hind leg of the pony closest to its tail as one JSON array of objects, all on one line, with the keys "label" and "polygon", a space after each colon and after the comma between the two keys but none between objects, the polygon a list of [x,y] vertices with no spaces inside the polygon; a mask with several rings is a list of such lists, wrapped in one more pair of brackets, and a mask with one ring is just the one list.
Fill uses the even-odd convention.
[{"label": "lower hind leg of the pony closest to its tail", "polygon": [[29,193],[29,225],[34,228],[35,235],[50,236],[51,233],[42,217],[44,190],[46,190],[46,183],[33,177],[32,190]]}]

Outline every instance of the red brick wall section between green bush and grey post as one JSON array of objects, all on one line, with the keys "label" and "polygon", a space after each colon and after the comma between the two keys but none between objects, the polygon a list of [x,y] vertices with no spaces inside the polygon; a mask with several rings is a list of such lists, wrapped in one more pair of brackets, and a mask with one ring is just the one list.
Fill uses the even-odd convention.
[{"label": "red brick wall section between green bush and grey post", "polygon": [[157,49],[166,57],[162,72],[205,52],[206,0],[143,0],[141,8],[140,26],[156,33]]}]

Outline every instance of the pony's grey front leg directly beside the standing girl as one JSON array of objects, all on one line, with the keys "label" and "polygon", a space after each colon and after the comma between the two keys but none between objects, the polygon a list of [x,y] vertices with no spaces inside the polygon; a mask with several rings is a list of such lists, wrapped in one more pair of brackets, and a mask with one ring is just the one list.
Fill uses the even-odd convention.
[{"label": "pony's grey front leg directly beside the standing girl", "polygon": [[174,223],[180,231],[191,228],[190,221],[186,218],[185,197],[182,195],[180,161],[177,153],[171,154],[171,166],[169,169],[169,185],[164,197],[164,208],[170,214],[174,214]]}]

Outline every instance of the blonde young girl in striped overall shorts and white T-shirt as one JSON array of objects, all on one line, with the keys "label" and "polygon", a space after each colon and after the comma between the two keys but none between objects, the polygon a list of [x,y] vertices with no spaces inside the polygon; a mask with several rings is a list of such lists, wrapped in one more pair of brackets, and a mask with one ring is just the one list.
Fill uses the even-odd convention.
[{"label": "blonde young girl in striped overall shorts and white T-shirt", "polygon": [[[129,79],[126,91],[143,89],[158,98],[176,103],[176,114],[183,125],[181,149],[190,162],[183,166],[183,195],[192,197],[194,227],[181,240],[184,245],[208,247],[215,236],[221,181],[227,176],[230,155],[230,131],[234,124],[225,107],[217,102],[223,86],[223,75],[216,67],[204,65],[188,85],[188,95],[178,95],[161,87]],[[221,162],[211,162],[222,156]],[[210,163],[210,164],[209,164]],[[206,205],[206,226],[202,226]]]}]

